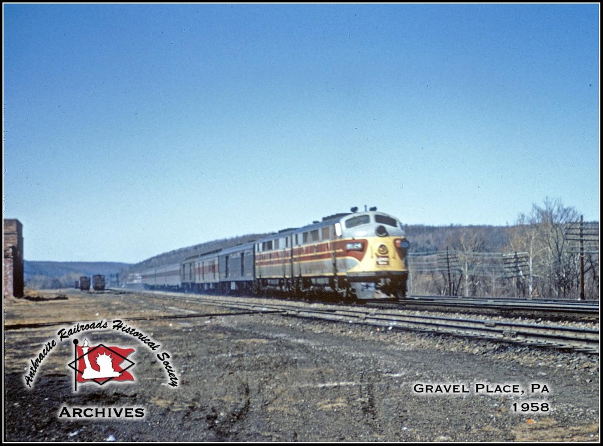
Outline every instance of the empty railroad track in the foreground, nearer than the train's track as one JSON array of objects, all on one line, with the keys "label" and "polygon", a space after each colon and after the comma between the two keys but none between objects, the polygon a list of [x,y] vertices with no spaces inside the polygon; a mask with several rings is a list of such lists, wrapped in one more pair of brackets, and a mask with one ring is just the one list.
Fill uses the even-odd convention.
[{"label": "empty railroad track in the foreground, nearer than the train's track", "polygon": [[[135,292],[135,291],[132,291]],[[455,336],[473,337],[495,342],[517,343],[521,345],[557,348],[599,354],[599,330],[594,328],[560,327],[557,325],[531,325],[528,323],[505,322],[500,320],[461,319],[458,317],[407,315],[383,313],[376,308],[341,307],[326,305],[309,306],[301,302],[292,304],[257,304],[241,298],[224,296],[182,295],[162,291],[143,291],[154,297],[157,295],[191,303],[204,303],[218,307],[248,310],[256,313],[280,313],[294,317],[335,320],[346,323],[362,323],[381,327],[402,328],[415,331],[436,332]]]}]

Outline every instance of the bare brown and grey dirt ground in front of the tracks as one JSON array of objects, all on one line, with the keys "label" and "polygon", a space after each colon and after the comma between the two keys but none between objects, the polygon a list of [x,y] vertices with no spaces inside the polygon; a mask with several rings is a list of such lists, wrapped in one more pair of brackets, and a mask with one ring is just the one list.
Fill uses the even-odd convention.
[{"label": "bare brown and grey dirt ground in front of the tracks", "polygon": [[[116,319],[160,348],[112,330]],[[61,328],[100,320],[109,327],[59,342]],[[5,299],[4,323],[5,441],[599,441],[598,356],[116,291]],[[134,381],[74,390],[74,337],[134,348]],[[30,360],[52,339],[30,389]],[[426,395],[416,383],[470,392]],[[525,394],[477,394],[476,383],[518,383]],[[549,393],[530,395],[531,383]],[[526,401],[549,410],[513,411]],[[145,416],[59,416],[63,407]]]}]

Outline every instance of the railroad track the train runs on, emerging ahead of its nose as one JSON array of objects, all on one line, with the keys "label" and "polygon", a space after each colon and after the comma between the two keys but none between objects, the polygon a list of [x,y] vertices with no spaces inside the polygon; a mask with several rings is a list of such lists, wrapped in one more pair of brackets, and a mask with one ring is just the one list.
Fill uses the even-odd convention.
[{"label": "railroad track the train runs on, emerging ahead of its nose", "polygon": [[[384,305],[376,300],[368,305]],[[509,298],[456,298],[449,296],[409,296],[389,304],[407,310],[529,316],[551,320],[599,320],[599,302],[545,301]]]}]

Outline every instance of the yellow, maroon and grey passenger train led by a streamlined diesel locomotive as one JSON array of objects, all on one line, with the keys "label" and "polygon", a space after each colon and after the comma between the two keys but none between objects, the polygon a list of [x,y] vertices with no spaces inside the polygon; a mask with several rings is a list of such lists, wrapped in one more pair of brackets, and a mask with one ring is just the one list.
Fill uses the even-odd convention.
[{"label": "yellow, maroon and grey passenger train led by a streamlined diesel locomotive", "polygon": [[371,208],[150,268],[140,273],[140,281],[147,289],[322,291],[349,299],[402,299],[408,247],[400,221]]}]

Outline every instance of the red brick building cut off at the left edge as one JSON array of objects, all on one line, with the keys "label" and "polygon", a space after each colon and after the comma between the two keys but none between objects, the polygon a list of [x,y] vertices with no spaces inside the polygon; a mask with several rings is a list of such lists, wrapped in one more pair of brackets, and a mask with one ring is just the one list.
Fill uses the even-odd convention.
[{"label": "red brick building cut off at the left edge", "polygon": [[4,219],[4,297],[23,296],[23,225],[16,219]]}]

